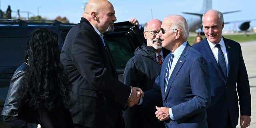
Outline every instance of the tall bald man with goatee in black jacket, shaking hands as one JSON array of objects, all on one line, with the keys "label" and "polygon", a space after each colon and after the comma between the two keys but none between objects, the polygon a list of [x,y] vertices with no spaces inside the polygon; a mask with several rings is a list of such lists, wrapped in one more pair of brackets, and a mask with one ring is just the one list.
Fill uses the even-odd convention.
[{"label": "tall bald man with goatee in black jacket, shaking hands", "polygon": [[[76,128],[123,128],[122,109],[137,103],[143,92],[118,80],[105,32],[114,31],[113,5],[90,0],[80,23],[70,29],[60,54],[72,83],[70,112]],[[137,96],[137,91],[141,95]]]}]

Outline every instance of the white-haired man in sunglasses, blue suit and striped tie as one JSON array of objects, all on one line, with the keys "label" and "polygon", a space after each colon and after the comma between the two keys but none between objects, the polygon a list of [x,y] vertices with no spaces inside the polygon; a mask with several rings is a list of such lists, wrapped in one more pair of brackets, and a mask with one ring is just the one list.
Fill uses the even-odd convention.
[{"label": "white-haired man in sunglasses, blue suit and striped tie", "polygon": [[156,118],[164,121],[166,128],[206,128],[206,108],[210,106],[208,65],[188,44],[185,18],[166,17],[158,36],[162,47],[172,52],[166,56],[153,88],[145,92],[142,106],[162,100],[163,107],[156,106]]}]

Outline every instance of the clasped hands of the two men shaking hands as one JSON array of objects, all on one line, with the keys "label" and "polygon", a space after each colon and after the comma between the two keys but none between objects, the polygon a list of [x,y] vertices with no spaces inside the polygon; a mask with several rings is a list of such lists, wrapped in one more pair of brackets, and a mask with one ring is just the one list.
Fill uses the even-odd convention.
[{"label": "clasped hands of the two men shaking hands", "polygon": [[126,105],[129,107],[134,106],[135,104],[138,104],[140,102],[140,99],[144,96],[144,92],[137,87],[132,87],[132,94],[128,98]]}]

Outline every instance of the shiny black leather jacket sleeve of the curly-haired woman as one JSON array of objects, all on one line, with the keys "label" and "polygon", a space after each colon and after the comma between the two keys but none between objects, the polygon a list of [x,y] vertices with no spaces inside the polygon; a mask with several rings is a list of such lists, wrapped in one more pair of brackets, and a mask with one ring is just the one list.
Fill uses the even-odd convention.
[{"label": "shiny black leather jacket sleeve of the curly-haired woman", "polygon": [[18,101],[17,98],[21,90],[21,82],[25,74],[26,67],[27,65],[25,63],[22,64],[12,76],[4,108],[2,110],[2,116],[18,116],[20,101]]}]

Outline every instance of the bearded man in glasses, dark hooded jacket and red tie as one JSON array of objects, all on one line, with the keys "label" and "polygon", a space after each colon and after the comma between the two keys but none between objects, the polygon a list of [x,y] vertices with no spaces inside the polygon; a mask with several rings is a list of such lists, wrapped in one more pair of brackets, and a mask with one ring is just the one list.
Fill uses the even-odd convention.
[{"label": "bearded man in glasses, dark hooded jacket and red tie", "polygon": [[[124,84],[138,86],[143,91],[152,88],[164,57],[170,53],[169,50],[162,48],[162,40],[158,36],[161,24],[158,19],[152,19],[145,24],[143,34],[146,41],[136,48],[134,56],[127,62],[123,75]],[[162,100],[143,108],[139,105],[127,108],[124,111],[125,127],[165,128],[164,122],[160,122],[155,115],[155,106],[158,105],[162,106]]]}]

